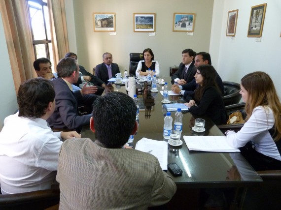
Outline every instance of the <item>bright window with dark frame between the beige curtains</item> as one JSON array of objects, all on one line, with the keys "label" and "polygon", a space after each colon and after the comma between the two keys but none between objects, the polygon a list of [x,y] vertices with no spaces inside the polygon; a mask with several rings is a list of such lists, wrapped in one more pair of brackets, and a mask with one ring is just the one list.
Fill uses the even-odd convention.
[{"label": "bright window with dark frame between the beige curtains", "polygon": [[54,63],[47,0],[27,0],[32,28],[35,58]]}]

